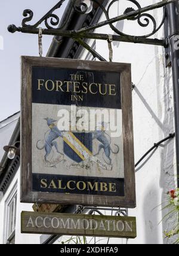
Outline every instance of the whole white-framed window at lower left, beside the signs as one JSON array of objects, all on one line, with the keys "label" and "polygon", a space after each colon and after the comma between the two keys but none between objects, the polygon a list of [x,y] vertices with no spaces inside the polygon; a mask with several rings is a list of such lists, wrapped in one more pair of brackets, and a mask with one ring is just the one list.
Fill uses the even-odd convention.
[{"label": "whole white-framed window at lower left, beside the signs", "polygon": [[15,243],[17,209],[17,184],[14,186],[5,202],[5,241],[4,243]]}]

